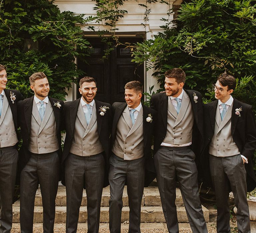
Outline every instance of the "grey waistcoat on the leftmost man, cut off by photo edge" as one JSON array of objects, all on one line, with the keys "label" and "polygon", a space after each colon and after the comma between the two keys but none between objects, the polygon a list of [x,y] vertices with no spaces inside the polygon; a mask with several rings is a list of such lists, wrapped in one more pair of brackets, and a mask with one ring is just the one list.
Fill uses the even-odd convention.
[{"label": "grey waistcoat on the leftmost man, cut off by photo edge", "polygon": [[18,138],[12,118],[11,107],[9,106],[6,95],[4,95],[0,118],[0,147],[13,146],[17,142]]}]

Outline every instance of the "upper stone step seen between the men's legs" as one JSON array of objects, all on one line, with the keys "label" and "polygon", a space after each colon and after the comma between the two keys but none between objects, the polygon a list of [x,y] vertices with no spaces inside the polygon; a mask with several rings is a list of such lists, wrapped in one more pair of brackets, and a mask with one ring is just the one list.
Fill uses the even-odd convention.
[{"label": "upper stone step seen between the men's legs", "polygon": [[[103,188],[102,198],[101,198],[101,206],[109,206],[109,198],[110,198],[110,191],[109,186]],[[58,193],[55,200],[56,206],[66,206],[66,188],[63,185],[59,185]],[[181,192],[179,188],[176,188],[176,201],[177,206],[182,206],[183,200],[181,196]],[[15,206],[19,206],[19,201],[14,203]],[[127,195],[127,186],[124,187],[123,192],[123,206],[128,206],[128,195]],[[40,188],[36,192],[35,197],[35,206],[42,206],[42,196]],[[87,199],[86,199],[86,191],[83,191],[83,198],[81,206],[87,206]],[[161,206],[161,199],[160,194],[158,191],[158,187],[150,186],[144,188],[144,193],[141,201],[141,206]]]}]

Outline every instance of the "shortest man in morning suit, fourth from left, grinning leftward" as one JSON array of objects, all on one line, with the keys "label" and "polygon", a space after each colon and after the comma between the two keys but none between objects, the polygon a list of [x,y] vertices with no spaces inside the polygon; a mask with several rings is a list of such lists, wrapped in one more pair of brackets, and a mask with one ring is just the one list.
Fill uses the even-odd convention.
[{"label": "shortest man in morning suit, fourth from left, grinning leftward", "polygon": [[[126,103],[114,103],[113,146],[109,159],[109,228],[121,232],[123,190],[127,184],[129,233],[140,233],[140,210],[144,185],[155,178],[150,153],[156,112],[141,104],[143,86],[138,81],[125,85]],[[145,171],[146,170],[146,171]],[[146,175],[145,175],[146,172]]]}]

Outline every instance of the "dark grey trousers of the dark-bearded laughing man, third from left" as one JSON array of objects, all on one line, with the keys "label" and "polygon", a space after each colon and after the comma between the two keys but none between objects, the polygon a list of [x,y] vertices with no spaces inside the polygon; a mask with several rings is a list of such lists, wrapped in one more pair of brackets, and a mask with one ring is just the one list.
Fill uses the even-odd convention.
[{"label": "dark grey trousers of the dark-bearded laughing man, third from left", "polygon": [[87,232],[99,232],[104,167],[105,161],[102,153],[92,156],[79,156],[70,153],[66,158],[66,232],[71,233],[77,231],[79,209],[82,202],[84,186],[87,198]]}]

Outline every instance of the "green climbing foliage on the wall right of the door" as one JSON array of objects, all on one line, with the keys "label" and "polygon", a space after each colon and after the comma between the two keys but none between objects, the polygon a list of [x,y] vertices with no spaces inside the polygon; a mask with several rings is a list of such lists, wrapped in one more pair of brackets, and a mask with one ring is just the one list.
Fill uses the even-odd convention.
[{"label": "green climbing foliage on the wall right of the door", "polygon": [[[186,72],[186,88],[200,91],[205,102],[209,88],[224,71],[239,85],[234,96],[256,110],[256,5],[254,1],[192,0],[181,5],[175,27],[167,23],[155,40],[138,43],[137,63],[147,61],[155,76],[174,67]],[[160,71],[159,71],[160,70]],[[163,88],[164,75],[159,76]]]}]

